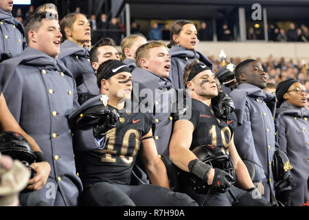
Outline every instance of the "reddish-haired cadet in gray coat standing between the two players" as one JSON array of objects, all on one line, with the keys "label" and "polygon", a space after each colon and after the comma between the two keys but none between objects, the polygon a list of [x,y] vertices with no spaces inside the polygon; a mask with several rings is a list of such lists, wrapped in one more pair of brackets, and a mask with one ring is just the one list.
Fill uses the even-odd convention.
[{"label": "reddish-haired cadet in gray coat standing between the two players", "polygon": [[[172,190],[176,188],[176,166],[170,160],[168,145],[172,134],[172,106],[176,104],[176,90],[170,79],[170,58],[163,41],[141,45],[136,52],[137,68],[132,72],[135,101],[148,101],[147,109],[155,116],[152,133],[157,151],[163,160]],[[146,92],[146,94],[144,94]],[[143,96],[143,97],[140,97]],[[142,100],[146,96],[145,100]],[[146,109],[145,109],[146,110]],[[139,111],[145,111],[139,109]]]}]

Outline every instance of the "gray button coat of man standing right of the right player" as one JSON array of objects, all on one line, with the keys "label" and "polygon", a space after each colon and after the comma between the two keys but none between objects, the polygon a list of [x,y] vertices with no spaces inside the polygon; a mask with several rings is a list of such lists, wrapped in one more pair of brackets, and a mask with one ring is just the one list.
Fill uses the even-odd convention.
[{"label": "gray button coat of man standing right of the right player", "polygon": [[[234,143],[240,158],[249,160],[255,167],[253,182],[262,181],[264,197],[275,198],[271,162],[275,153],[275,96],[259,87],[243,83],[229,96],[235,104],[238,128]],[[275,199],[272,199],[275,201]]]}]

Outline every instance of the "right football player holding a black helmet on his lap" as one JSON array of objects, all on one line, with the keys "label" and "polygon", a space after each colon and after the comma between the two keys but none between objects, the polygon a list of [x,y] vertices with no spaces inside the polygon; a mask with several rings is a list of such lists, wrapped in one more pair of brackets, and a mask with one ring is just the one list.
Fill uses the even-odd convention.
[{"label": "right football player holding a black helmet on his lap", "polygon": [[[235,113],[216,118],[211,109],[211,98],[218,96],[216,80],[211,69],[204,63],[193,62],[185,67],[184,85],[192,97],[191,114],[178,114],[179,120],[174,123],[170,141],[170,158],[181,169],[181,176],[189,176],[181,181],[182,192],[190,195],[199,206],[269,206],[270,204],[255,189],[247,167],[240,159],[233,144],[233,130],[237,126]],[[201,145],[203,147],[201,148]],[[223,168],[211,166],[194,153],[194,148],[221,150],[220,155],[229,155],[236,174],[234,177]],[[218,151],[216,151],[218,153]],[[205,155],[205,153],[204,153]],[[220,156],[222,157],[222,156]],[[185,172],[183,172],[185,171]],[[190,174],[188,174],[190,173]],[[194,182],[203,182],[206,190],[194,186]],[[191,179],[191,180],[190,180]],[[194,179],[194,178],[193,178]]]}]

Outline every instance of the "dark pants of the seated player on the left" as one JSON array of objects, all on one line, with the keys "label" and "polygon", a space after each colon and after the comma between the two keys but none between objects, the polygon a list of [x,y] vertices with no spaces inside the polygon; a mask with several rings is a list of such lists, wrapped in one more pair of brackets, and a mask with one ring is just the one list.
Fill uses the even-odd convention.
[{"label": "dark pants of the seated player on the left", "polygon": [[98,182],[84,188],[83,206],[198,206],[189,196],[161,186]]}]

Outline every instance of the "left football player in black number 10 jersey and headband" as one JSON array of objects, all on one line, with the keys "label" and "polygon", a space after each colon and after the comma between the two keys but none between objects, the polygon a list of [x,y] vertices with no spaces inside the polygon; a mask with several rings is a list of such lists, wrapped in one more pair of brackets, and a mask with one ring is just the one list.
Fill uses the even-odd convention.
[{"label": "left football player in black number 10 jersey and headband", "polygon": [[[184,193],[169,190],[166,168],[152,137],[155,123],[152,113],[135,113],[128,107],[126,100],[130,100],[132,89],[128,66],[115,60],[102,63],[98,69],[98,87],[100,94],[108,95],[109,113],[93,126],[92,136],[81,135],[89,143],[95,137],[97,143],[82,144],[76,151],[76,166],[84,186],[82,203],[85,206],[197,206]],[[102,102],[102,95],[95,96],[82,104],[75,115]],[[144,162],[151,184],[130,185],[137,156]]]}]

